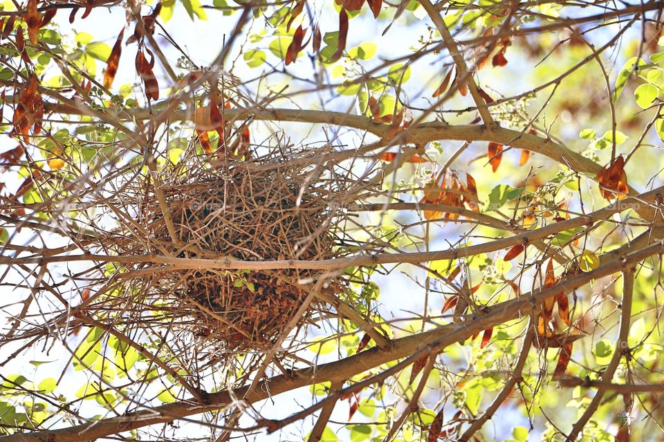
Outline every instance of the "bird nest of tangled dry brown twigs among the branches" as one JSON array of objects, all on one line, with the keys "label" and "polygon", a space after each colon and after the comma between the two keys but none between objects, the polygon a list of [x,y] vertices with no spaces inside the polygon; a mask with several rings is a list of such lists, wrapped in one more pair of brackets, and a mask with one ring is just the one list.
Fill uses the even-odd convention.
[{"label": "bird nest of tangled dry brown twigs among the branches", "polygon": [[[191,155],[163,169],[154,182],[127,183],[121,204],[136,212],[136,222],[114,232],[115,252],[246,261],[340,256],[336,229],[344,201],[357,198],[349,191],[353,182],[281,155],[219,167]],[[134,309],[131,320],[142,327],[168,323],[183,341],[204,342],[215,355],[271,347],[290,332],[287,325],[311,291],[302,281],[316,278],[306,269],[236,271],[156,262],[132,270],[138,276],[127,276],[122,285],[142,308]],[[343,286],[335,281],[326,290]],[[315,303],[295,325],[311,320],[314,309]]]}]

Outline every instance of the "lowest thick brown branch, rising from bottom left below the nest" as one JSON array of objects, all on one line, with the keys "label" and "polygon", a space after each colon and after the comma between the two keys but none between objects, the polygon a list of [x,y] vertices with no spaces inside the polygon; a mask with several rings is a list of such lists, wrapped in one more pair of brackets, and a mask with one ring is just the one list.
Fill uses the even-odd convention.
[{"label": "lowest thick brown branch, rising from bottom left below the nest", "polygon": [[[627,272],[634,267],[636,263],[648,258],[649,256],[664,253],[664,244],[652,244],[644,249],[629,253],[625,256],[618,256],[616,260],[607,262],[598,267],[598,269],[571,276],[548,289],[534,291],[530,294],[524,294],[517,299],[501,302],[501,304],[488,309],[488,313],[483,315],[473,315],[461,325],[443,325],[429,332],[423,332],[405,338],[393,341],[393,347],[389,352],[384,352],[377,347],[369,349],[360,354],[349,356],[340,361],[319,365],[317,367],[308,367],[295,370],[290,376],[279,375],[267,381],[268,387],[256,389],[252,394],[245,396],[248,386],[239,387],[234,390],[222,390],[210,394],[208,405],[194,405],[192,401],[176,401],[154,407],[140,412],[127,413],[124,416],[109,419],[101,419],[84,425],[75,425],[73,427],[63,428],[53,431],[35,431],[29,433],[17,433],[10,436],[0,437],[0,442],[80,442],[91,441],[100,437],[108,436],[118,432],[133,430],[146,425],[171,422],[185,416],[200,414],[212,410],[219,410],[231,403],[234,398],[244,397],[250,403],[261,401],[270,396],[276,396],[283,392],[295,390],[295,388],[311,385],[312,383],[338,382],[345,381],[352,376],[378,367],[389,361],[400,358],[416,358],[427,352],[442,351],[448,345],[452,345],[459,340],[465,340],[475,333],[479,333],[488,327],[506,323],[508,320],[517,319],[528,315],[543,300],[555,296],[562,290],[564,294],[586,285],[591,280],[604,278],[617,271]],[[615,256],[615,255],[614,255]],[[629,288],[629,287],[627,287]],[[623,307],[625,308],[625,307]],[[622,330],[622,329],[621,329]],[[622,332],[621,332],[622,336]],[[622,356],[623,353],[620,353]],[[342,390],[339,394],[347,394],[361,387],[360,383],[351,385]],[[336,395],[320,401],[307,411],[315,411],[322,408],[326,403],[336,400]]]}]

